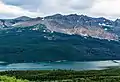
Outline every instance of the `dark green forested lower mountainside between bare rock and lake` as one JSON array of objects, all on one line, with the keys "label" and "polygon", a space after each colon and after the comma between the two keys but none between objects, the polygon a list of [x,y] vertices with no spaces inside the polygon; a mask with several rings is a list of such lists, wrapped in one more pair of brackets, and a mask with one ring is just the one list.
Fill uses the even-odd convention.
[{"label": "dark green forested lower mountainside between bare rock and lake", "polygon": [[119,49],[119,41],[51,33],[44,25],[0,31],[0,60],[8,63],[119,60]]}]

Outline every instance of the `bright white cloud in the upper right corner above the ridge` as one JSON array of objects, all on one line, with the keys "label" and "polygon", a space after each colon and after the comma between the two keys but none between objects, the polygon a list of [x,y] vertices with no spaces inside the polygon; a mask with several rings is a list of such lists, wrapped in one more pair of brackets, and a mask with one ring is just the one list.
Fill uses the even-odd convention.
[{"label": "bright white cloud in the upper right corner above the ridge", "polygon": [[97,16],[117,18],[120,16],[120,0],[96,0],[90,13]]}]

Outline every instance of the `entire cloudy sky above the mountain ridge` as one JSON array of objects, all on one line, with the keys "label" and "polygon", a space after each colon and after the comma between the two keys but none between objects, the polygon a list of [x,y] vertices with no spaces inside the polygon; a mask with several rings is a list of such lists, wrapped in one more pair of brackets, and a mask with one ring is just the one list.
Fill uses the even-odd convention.
[{"label": "entire cloudy sky above the mountain ridge", "polygon": [[84,14],[120,18],[120,0],[0,0],[0,18]]}]

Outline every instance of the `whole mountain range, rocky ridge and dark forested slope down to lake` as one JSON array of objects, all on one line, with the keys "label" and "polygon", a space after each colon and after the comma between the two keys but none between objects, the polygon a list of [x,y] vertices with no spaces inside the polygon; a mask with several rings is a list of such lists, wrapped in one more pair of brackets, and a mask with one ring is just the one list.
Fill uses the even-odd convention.
[{"label": "whole mountain range, rocky ridge and dark forested slope down to lake", "polygon": [[0,60],[119,60],[119,25],[119,19],[77,14],[1,19]]}]

